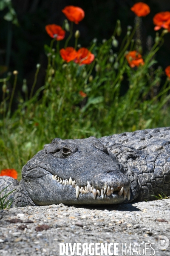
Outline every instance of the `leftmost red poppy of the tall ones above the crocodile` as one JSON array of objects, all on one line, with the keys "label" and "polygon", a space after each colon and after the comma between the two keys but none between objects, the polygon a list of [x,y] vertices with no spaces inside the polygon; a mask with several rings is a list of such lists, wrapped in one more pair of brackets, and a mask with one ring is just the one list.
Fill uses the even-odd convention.
[{"label": "leftmost red poppy of the tall ones above the crocodile", "polygon": [[56,37],[57,41],[62,40],[65,37],[65,31],[62,29],[61,26],[51,24],[45,26],[45,30],[48,33],[48,35],[51,36],[51,38]]}]

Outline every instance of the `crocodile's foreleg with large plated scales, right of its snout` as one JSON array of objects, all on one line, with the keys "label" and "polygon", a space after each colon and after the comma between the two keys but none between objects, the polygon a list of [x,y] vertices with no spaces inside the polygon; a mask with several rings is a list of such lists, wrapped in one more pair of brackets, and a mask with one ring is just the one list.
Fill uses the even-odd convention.
[{"label": "crocodile's foreleg with large plated scales, right of its snout", "polygon": [[150,201],[152,195],[170,195],[170,154],[152,152],[128,163],[138,175],[143,199]]}]

